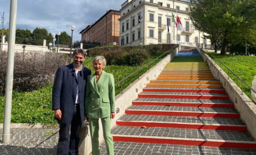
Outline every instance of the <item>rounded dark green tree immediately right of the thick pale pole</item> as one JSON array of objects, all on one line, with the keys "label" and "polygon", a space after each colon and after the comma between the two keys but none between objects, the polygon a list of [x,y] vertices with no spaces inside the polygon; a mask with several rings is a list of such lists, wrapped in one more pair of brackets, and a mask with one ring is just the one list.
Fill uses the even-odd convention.
[{"label": "rounded dark green tree immediately right of the thick pale pole", "polygon": [[25,44],[26,38],[28,38],[29,41],[32,40],[32,33],[29,29],[26,29],[26,30],[20,29],[20,28],[16,29],[15,44]]}]

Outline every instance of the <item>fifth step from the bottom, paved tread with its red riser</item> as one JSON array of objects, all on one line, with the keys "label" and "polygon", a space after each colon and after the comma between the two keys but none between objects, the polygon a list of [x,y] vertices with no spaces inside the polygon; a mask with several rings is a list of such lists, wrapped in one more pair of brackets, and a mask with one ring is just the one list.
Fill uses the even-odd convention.
[{"label": "fifth step from the bottom, paved tread with its red riser", "polygon": [[229,96],[226,93],[141,92],[138,97],[229,100]]}]

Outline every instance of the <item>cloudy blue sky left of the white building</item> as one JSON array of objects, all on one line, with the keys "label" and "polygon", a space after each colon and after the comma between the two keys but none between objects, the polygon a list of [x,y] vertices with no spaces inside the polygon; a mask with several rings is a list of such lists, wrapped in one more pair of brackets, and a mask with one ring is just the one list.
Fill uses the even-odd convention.
[{"label": "cloudy blue sky left of the white building", "polygon": [[[0,0],[0,12],[5,12],[4,28],[9,28],[11,0]],[[74,41],[81,41],[81,34],[106,13],[106,10],[120,10],[125,0],[18,0],[16,28],[46,28],[55,34],[66,31],[71,35],[70,25],[75,25]],[[2,29],[2,25],[1,29]]]}]

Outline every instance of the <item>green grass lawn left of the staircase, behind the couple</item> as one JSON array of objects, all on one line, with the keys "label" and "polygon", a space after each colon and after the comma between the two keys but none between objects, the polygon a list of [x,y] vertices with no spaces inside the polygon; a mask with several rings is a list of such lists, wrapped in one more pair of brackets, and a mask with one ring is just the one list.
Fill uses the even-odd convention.
[{"label": "green grass lawn left of the staircase, behind the couple", "polygon": [[[145,60],[139,66],[126,66],[126,65],[107,65],[104,69],[106,72],[112,73],[115,78],[115,83],[124,79],[126,76],[141,68],[145,64],[148,64],[155,58],[159,57],[163,53],[152,55],[150,59]],[[168,54],[168,53],[167,53]],[[164,56],[166,56],[165,54]],[[163,57],[164,57],[163,56]],[[163,58],[162,57],[162,58]],[[93,58],[86,58],[84,66],[88,67],[94,73],[92,66]],[[158,59],[150,68],[154,66],[161,59]],[[148,70],[146,67],[140,72],[140,75]],[[137,75],[137,74],[136,74]],[[123,84],[123,89],[129,86],[133,81],[137,79],[137,76],[128,78]],[[121,92],[120,85],[116,87],[116,95]],[[42,89],[32,92],[16,92],[13,91],[12,100],[12,117],[11,123],[30,123],[30,124],[56,124],[57,121],[53,119],[52,109],[52,85],[46,86]],[[0,96],[0,123],[4,121],[4,96]]]}]

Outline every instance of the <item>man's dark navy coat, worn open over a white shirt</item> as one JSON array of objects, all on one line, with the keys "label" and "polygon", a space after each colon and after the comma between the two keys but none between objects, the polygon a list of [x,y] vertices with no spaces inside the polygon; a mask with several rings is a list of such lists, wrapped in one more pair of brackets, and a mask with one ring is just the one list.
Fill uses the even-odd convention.
[{"label": "man's dark navy coat, worn open over a white shirt", "polygon": [[79,100],[81,121],[85,121],[85,87],[87,76],[91,70],[84,67],[78,73],[78,80],[73,64],[61,66],[55,74],[52,88],[52,110],[61,110],[61,123],[70,124],[73,117],[77,85],[79,85]]}]

